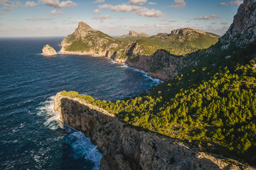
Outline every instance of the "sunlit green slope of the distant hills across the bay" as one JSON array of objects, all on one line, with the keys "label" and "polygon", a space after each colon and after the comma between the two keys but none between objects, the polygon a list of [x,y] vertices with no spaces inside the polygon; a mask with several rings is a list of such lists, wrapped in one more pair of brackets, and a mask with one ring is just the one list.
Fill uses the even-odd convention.
[{"label": "sunlit green slope of the distant hills across the bay", "polygon": [[146,40],[159,46],[159,49],[171,52],[172,55],[186,55],[191,52],[196,52],[197,50],[208,48],[210,45],[214,45],[218,41],[218,38],[220,38],[220,36],[213,33],[203,34],[194,32],[186,35],[159,33],[158,35],[153,35],[150,38],[132,37],[117,38],[117,40],[122,42]]}]

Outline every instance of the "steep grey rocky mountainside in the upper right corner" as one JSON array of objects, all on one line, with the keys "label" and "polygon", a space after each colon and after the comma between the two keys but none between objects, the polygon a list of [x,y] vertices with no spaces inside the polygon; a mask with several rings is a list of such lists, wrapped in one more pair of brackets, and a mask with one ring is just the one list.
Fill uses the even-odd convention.
[{"label": "steep grey rocky mountainside in the upper right corner", "polygon": [[238,8],[234,21],[227,33],[220,38],[223,48],[226,49],[230,43],[238,47],[255,42],[256,40],[256,0],[245,0]]}]

